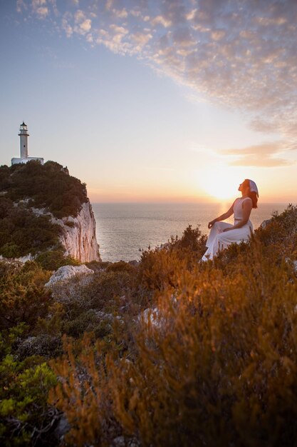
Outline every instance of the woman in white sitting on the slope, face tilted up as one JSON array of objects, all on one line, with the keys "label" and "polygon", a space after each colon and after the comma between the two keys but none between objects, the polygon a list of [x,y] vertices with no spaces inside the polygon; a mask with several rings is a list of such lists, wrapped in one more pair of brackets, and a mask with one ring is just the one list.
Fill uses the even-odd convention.
[{"label": "woman in white sitting on the slope, face tilted up", "polygon": [[[212,259],[231,243],[247,241],[251,236],[253,225],[249,216],[251,209],[257,208],[258,188],[254,181],[246,179],[239,185],[238,190],[241,191],[241,197],[234,201],[226,213],[209,222],[208,228],[211,230],[207,239],[207,251],[204,253],[202,261]],[[221,222],[232,214],[234,214],[234,225]]]}]

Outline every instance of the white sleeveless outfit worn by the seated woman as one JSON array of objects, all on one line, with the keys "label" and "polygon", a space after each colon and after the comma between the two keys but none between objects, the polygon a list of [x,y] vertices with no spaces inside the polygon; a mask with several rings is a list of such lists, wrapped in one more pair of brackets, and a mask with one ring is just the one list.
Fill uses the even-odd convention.
[{"label": "white sleeveless outfit worn by the seated woman", "polygon": [[[234,201],[233,211],[234,211],[234,225],[241,221],[243,218],[242,206],[245,200],[251,200],[249,197],[244,199],[239,198]],[[235,228],[234,230],[226,231],[223,233],[224,228],[229,228],[233,225],[227,224],[226,222],[215,222],[210,230],[209,237],[207,239],[207,251],[202,257],[202,261],[207,261],[207,259],[212,259],[214,256],[223,250],[231,243],[241,243],[241,241],[248,241],[251,233],[253,232],[253,225],[251,221],[247,221],[241,228]]]}]

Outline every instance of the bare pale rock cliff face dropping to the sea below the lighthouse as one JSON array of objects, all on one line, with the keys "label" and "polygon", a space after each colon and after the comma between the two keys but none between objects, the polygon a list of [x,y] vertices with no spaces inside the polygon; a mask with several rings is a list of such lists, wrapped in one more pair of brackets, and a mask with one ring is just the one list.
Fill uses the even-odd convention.
[{"label": "bare pale rock cliff face dropping to the sea below the lighthouse", "polygon": [[63,228],[60,240],[66,249],[66,255],[80,262],[101,261],[96,239],[96,222],[89,201],[83,204],[77,217],[53,217],[52,222]]}]

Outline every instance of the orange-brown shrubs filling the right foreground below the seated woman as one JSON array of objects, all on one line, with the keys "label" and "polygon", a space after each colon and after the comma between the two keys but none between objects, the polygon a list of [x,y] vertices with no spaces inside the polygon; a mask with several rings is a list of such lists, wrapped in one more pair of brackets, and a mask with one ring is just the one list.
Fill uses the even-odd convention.
[{"label": "orange-brown shrubs filling the right foreground below the seated woman", "polygon": [[194,266],[177,251],[145,253],[140,279],[157,306],[126,321],[115,341],[130,333],[124,350],[68,341],[52,363],[63,382],[51,403],[71,422],[66,445],[108,445],[112,433],[154,447],[294,445],[291,263],[271,257],[258,238],[248,251],[236,247],[228,263]]}]

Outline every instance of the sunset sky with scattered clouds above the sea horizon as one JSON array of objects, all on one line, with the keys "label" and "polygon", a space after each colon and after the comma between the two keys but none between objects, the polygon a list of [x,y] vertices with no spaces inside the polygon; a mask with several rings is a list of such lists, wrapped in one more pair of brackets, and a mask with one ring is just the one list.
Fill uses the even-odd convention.
[{"label": "sunset sky with scattered clouds above the sea horizon", "polygon": [[0,0],[0,164],[25,121],[93,202],[296,204],[296,40],[296,0]]}]

